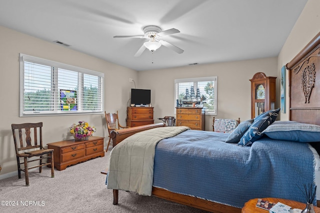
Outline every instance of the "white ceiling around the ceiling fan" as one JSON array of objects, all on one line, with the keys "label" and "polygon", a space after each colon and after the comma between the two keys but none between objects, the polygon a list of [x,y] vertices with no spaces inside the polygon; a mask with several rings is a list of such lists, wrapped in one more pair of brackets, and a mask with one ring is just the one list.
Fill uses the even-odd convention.
[{"label": "white ceiling around the ceiling fan", "polygon": [[[306,1],[0,0],[0,25],[140,71],[277,56]],[[161,39],[184,52],[134,57],[147,39],[113,38],[146,25],[180,30]]]}]

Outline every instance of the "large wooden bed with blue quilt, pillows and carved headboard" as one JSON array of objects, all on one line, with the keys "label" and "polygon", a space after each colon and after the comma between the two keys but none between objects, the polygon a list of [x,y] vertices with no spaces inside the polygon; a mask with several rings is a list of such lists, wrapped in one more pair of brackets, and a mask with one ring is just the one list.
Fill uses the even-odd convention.
[{"label": "large wooden bed with blue quilt, pillows and carved headboard", "polygon": [[[240,137],[235,133],[187,129],[172,133],[175,136],[171,137],[171,130],[167,129],[170,133],[161,132],[162,138],[156,136],[159,139],[152,142],[152,146],[145,146],[147,153],[150,147],[154,150],[148,156],[154,162],[151,175],[142,174],[138,180],[147,179],[150,182],[151,177],[152,181],[151,187],[142,189],[139,194],[152,194],[217,213],[239,213],[244,202],[252,198],[278,197],[304,203],[304,195],[299,188],[302,189],[303,184],[311,184],[313,188],[320,186],[320,176],[317,174],[320,162],[317,154],[320,141],[320,100],[317,98],[320,95],[320,72],[317,72],[320,70],[319,46],[320,33],[286,64],[289,70],[290,121],[275,121],[279,113],[277,109],[253,121],[241,122],[238,128]],[[257,128],[252,128],[256,125]],[[152,124],[111,132],[114,148],[110,162],[128,165],[124,163],[128,159],[125,154],[127,150],[141,148],[133,146],[135,141],[144,137],[145,132],[149,137],[143,138],[143,141],[154,138],[152,134],[169,128],[163,126],[162,123]],[[231,143],[225,143],[226,140]],[[129,149],[124,149],[127,146]],[[129,160],[135,161],[139,155],[133,153]],[[144,167],[146,161],[141,161],[142,169],[149,170],[149,167]],[[132,182],[134,186],[122,187],[119,184],[126,182],[123,178],[128,173],[126,169],[130,170],[123,166],[119,170],[114,170],[112,166],[109,168],[106,181],[107,188],[113,190],[114,205],[118,203],[119,189],[139,191],[141,188],[141,185],[134,185],[135,180],[131,178],[135,175],[132,174],[127,182]],[[315,199],[313,204],[316,205]]]}]

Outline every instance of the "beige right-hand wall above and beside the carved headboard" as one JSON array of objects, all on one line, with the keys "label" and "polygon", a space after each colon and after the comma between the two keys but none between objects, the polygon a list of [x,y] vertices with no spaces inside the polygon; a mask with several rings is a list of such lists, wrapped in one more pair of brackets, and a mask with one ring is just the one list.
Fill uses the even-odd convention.
[{"label": "beige right-hand wall above and beside the carved headboard", "polygon": [[[287,64],[320,31],[319,8],[319,0],[308,0],[305,4],[304,9],[278,55],[278,78],[281,76],[281,67]],[[288,82],[287,70],[286,82]],[[288,98],[288,85],[286,84],[286,113],[280,114],[281,120],[289,119]],[[278,100],[280,101],[280,97]]]}]

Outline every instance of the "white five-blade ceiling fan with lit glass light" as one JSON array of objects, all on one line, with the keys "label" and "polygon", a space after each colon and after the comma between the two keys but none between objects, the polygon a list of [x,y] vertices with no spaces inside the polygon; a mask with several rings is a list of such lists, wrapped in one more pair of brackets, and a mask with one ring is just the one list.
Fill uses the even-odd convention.
[{"label": "white five-blade ceiling fan with lit glass light", "polygon": [[178,33],[180,32],[179,30],[175,28],[171,28],[171,29],[161,31],[160,27],[149,25],[143,28],[143,32],[144,32],[144,35],[116,35],[116,36],[113,36],[113,38],[147,38],[149,39],[149,41],[144,42],[142,46],[138,49],[138,51],[134,54],[135,57],[140,56],[142,52],[145,50],[145,48],[149,49],[153,53],[161,45],[179,54],[183,52],[183,50],[180,49],[179,47],[174,46],[173,44],[167,41],[159,40],[159,37]]}]

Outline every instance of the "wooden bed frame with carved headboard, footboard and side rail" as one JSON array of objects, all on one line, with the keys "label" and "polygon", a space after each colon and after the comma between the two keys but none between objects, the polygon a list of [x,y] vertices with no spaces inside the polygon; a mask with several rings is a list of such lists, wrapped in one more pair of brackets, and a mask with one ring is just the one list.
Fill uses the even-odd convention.
[{"label": "wooden bed frame with carved headboard, footboard and side rail", "polygon": [[[289,120],[320,125],[320,32],[289,62]],[[303,85],[303,86],[301,86]],[[111,132],[113,147],[136,132],[164,126],[163,123]],[[213,213],[240,213],[230,207],[167,190],[152,188],[152,195],[175,203]],[[113,190],[113,205],[118,203],[118,190]]]}]

